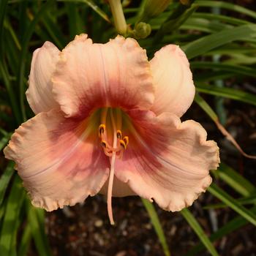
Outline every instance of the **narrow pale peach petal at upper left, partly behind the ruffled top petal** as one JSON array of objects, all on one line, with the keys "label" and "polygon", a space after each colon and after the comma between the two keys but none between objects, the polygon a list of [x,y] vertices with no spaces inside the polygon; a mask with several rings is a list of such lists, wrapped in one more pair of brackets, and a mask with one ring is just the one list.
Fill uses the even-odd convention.
[{"label": "narrow pale peach petal at upper left, partly behind the ruffled top petal", "polygon": [[35,114],[59,108],[59,104],[53,99],[51,82],[59,53],[59,49],[51,42],[45,42],[42,48],[33,53],[26,97]]}]

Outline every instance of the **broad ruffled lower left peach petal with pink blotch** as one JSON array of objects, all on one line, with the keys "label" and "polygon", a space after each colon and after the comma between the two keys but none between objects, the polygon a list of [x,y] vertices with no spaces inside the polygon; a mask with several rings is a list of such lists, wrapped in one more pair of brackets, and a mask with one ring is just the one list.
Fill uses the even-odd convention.
[{"label": "broad ruffled lower left peach petal with pink blotch", "polygon": [[60,110],[39,113],[12,135],[5,157],[16,162],[34,206],[52,211],[95,195],[108,178],[109,159],[88,121]]}]

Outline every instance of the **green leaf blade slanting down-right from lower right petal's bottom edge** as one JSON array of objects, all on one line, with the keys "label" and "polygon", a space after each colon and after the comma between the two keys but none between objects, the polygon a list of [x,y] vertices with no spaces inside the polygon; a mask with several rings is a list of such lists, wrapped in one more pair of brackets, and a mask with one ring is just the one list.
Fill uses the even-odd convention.
[{"label": "green leaf blade slanting down-right from lower right petal's bottom edge", "polygon": [[188,208],[184,208],[181,210],[181,214],[184,217],[184,219],[187,220],[189,223],[190,227],[195,231],[197,234],[198,238],[202,241],[203,245],[206,246],[208,249],[208,252],[211,253],[213,256],[217,256],[218,253],[216,249],[214,248],[213,244],[211,244],[211,241],[209,240],[208,236],[206,236],[206,233],[204,233],[202,227],[200,224],[197,222],[193,214],[189,211]]}]

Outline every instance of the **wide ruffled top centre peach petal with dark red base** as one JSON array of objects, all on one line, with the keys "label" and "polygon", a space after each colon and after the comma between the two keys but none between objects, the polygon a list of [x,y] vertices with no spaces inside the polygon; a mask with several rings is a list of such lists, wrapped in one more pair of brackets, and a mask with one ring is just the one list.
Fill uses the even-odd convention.
[{"label": "wide ruffled top centre peach petal with dark red base", "polygon": [[154,87],[146,51],[131,38],[118,36],[103,45],[77,36],[61,53],[53,93],[67,116],[104,106],[148,109]]}]

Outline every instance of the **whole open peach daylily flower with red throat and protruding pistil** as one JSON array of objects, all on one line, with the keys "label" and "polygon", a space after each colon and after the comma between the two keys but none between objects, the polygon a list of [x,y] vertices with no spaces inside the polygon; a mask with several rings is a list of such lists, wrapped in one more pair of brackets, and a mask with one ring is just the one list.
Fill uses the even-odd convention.
[{"label": "whole open peach daylily flower with red throat and protruding pistil", "polygon": [[75,37],[61,52],[34,51],[26,92],[36,116],[4,149],[34,206],[52,211],[89,195],[139,195],[167,211],[190,206],[211,184],[219,148],[195,121],[180,121],[195,86],[176,45],[151,61],[135,39]]}]

